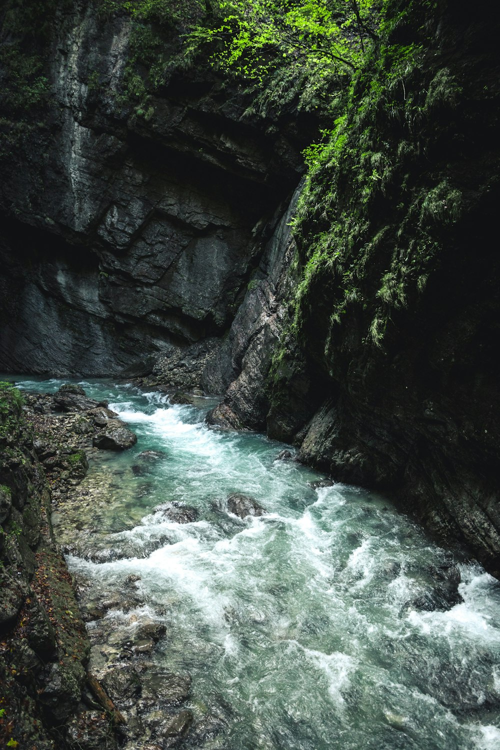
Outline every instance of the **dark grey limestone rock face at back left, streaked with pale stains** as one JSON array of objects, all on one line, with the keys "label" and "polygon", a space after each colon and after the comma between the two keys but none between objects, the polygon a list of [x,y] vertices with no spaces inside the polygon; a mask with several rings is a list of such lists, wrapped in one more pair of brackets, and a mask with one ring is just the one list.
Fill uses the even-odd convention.
[{"label": "dark grey limestone rock face at back left, streaked with pale stains", "polygon": [[218,340],[300,177],[307,136],[244,115],[210,66],[174,72],[148,118],[123,103],[130,28],[92,3],[54,22],[46,129],[2,164],[4,371],[149,374]]}]

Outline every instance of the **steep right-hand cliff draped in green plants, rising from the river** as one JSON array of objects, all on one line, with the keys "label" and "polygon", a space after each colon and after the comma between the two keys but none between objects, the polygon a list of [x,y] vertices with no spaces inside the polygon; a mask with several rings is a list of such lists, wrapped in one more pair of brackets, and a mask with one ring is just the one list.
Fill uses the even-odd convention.
[{"label": "steep right-hand cliff draped in green plants, rising from the river", "polygon": [[[266,303],[265,345],[212,419],[391,493],[498,577],[499,55],[465,6],[389,5],[302,190],[280,312]],[[233,325],[237,360],[260,299]]]}]

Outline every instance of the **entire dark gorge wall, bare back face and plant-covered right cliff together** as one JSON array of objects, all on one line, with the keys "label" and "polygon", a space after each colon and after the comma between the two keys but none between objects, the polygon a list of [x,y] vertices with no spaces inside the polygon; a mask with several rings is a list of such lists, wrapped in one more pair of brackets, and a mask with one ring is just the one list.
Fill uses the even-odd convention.
[{"label": "entire dark gorge wall, bare back face and plant-covered right cliff together", "polygon": [[22,142],[2,154],[0,366],[226,391],[214,424],[382,488],[499,576],[493,16],[386,3],[294,194],[313,118],[251,115],[168,34],[144,98],[148,28],[52,5],[52,93],[1,125]]}]

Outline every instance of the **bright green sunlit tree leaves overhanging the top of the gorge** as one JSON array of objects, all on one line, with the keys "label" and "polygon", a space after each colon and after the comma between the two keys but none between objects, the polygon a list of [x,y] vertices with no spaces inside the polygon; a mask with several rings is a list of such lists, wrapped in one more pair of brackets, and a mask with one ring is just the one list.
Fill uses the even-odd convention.
[{"label": "bright green sunlit tree leaves overhanging the top of the gorge", "polygon": [[345,73],[376,35],[376,9],[373,0],[221,1],[211,27],[198,26],[190,39],[215,46],[213,62],[247,80],[262,83],[283,66]]}]

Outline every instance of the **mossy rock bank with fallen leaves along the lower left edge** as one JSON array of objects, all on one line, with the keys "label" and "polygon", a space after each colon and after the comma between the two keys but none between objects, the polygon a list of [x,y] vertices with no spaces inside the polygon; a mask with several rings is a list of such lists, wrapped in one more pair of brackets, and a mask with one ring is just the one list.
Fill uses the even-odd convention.
[{"label": "mossy rock bank with fallen leaves along the lower left edge", "polygon": [[19,392],[1,383],[0,741],[48,750],[55,739],[77,746],[85,724],[106,735],[109,721],[84,703],[90,643],[54,543],[35,443]]}]

